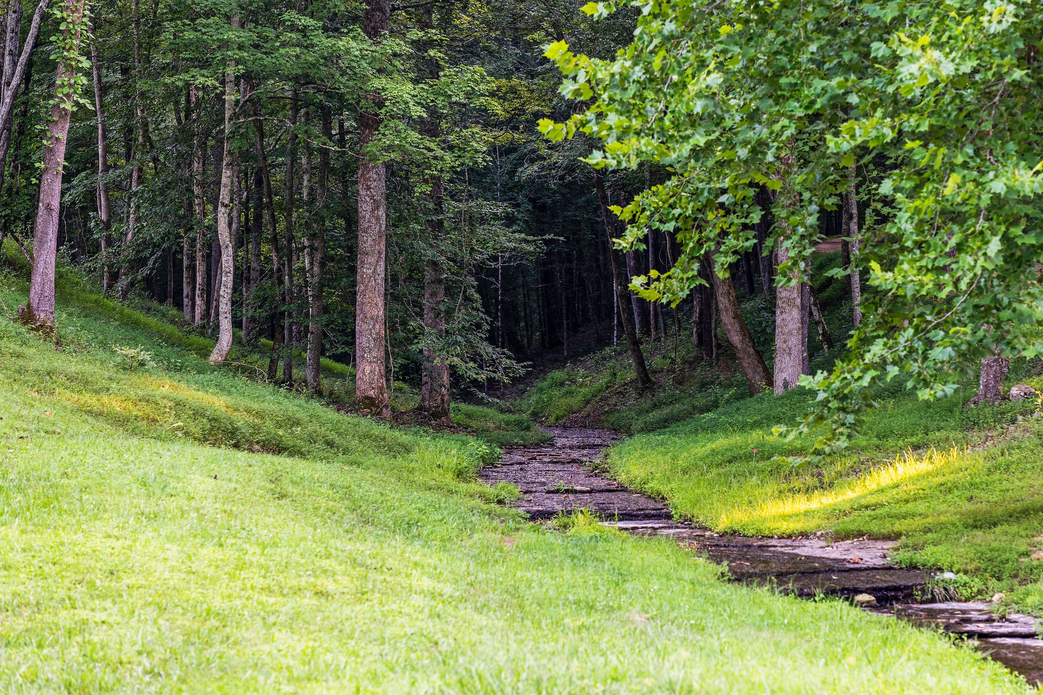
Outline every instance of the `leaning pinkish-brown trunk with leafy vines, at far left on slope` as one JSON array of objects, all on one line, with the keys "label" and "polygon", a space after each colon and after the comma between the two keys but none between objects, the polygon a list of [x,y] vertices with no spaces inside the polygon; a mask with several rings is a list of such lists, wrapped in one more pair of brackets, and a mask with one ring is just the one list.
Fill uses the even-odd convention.
[{"label": "leaning pinkish-brown trunk with leafy vines, at far left on slope", "polygon": [[[57,260],[58,213],[62,206],[62,165],[65,163],[66,135],[75,99],[76,65],[87,0],[68,0],[62,44],[54,79],[54,103],[51,122],[44,142],[44,166],[40,173],[40,199],[32,231],[32,271],[29,299],[19,307],[21,320],[38,330],[54,331],[54,266]],[[70,32],[72,35],[70,35]]]}]

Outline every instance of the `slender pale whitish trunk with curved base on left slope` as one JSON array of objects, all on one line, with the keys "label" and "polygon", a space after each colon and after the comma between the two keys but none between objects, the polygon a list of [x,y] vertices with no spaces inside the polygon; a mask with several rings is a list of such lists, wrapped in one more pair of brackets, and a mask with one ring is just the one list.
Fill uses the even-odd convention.
[{"label": "slender pale whitish trunk with curved base on left slope", "polygon": [[[239,15],[228,23],[239,28]],[[210,353],[211,364],[224,362],[232,350],[232,289],[236,276],[236,242],[232,235],[232,188],[239,176],[232,150],[232,124],[236,118],[236,61],[228,58],[224,67],[224,156],[221,159],[221,189],[217,201],[217,241],[221,245],[221,269],[217,289],[217,343]],[[239,196],[236,196],[237,202]],[[238,205],[237,205],[238,206]],[[238,220],[237,220],[238,222]]]}]

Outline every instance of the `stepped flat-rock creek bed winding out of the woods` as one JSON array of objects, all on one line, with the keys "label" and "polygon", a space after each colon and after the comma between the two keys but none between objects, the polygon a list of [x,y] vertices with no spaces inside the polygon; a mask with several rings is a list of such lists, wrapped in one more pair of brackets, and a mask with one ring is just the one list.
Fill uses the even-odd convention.
[{"label": "stepped flat-rock creek bed winding out of the woods", "polygon": [[983,602],[922,602],[930,574],[896,567],[891,541],[831,541],[825,537],[776,539],[714,533],[675,521],[663,502],[601,475],[595,464],[620,441],[607,429],[548,427],[548,444],[507,449],[479,477],[489,485],[510,482],[522,493],[513,506],[538,521],[586,510],[604,524],[637,536],[664,536],[724,564],[735,581],[774,585],[800,597],[833,596],[867,611],[894,615],[922,626],[966,637],[975,648],[1043,682],[1041,621],[1003,614]]}]

